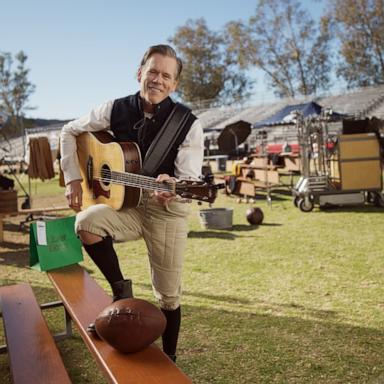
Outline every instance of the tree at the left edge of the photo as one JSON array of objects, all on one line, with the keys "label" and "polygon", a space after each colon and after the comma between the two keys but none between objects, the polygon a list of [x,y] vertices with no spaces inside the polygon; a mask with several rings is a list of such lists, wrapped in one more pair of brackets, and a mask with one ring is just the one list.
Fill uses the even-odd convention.
[{"label": "tree at the left edge of the photo", "polygon": [[16,68],[9,52],[0,53],[0,110],[10,116],[9,133],[17,135],[24,133],[25,112],[33,109],[28,100],[35,86],[28,79],[27,55],[20,51],[14,58]]}]

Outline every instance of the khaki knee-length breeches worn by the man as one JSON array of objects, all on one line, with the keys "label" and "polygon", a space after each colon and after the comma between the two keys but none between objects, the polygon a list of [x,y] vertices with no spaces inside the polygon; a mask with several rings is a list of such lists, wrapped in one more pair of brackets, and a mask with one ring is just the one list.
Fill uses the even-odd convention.
[{"label": "khaki knee-length breeches worn by the man", "polygon": [[188,203],[171,201],[162,206],[151,198],[137,208],[120,211],[97,204],[77,214],[75,229],[119,242],[143,238],[154,295],[161,308],[173,310],[180,305],[189,210]]}]

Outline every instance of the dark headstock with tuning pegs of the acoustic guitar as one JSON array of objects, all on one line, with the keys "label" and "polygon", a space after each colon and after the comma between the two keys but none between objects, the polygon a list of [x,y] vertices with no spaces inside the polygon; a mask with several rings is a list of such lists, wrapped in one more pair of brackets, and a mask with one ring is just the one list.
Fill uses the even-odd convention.
[{"label": "dark headstock with tuning pegs of the acoustic guitar", "polygon": [[192,200],[213,203],[217,196],[217,190],[224,188],[224,184],[213,184],[206,181],[181,180],[176,183],[177,195]]}]

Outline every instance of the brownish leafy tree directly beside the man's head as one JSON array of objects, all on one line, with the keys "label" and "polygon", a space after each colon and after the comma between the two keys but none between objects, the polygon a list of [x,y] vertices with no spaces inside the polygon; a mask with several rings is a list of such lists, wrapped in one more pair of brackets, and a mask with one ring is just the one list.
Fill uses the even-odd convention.
[{"label": "brownish leafy tree directly beside the man's head", "polygon": [[207,107],[231,104],[249,96],[252,82],[227,49],[224,32],[211,31],[203,18],[178,27],[169,42],[179,52],[183,74],[178,95]]}]

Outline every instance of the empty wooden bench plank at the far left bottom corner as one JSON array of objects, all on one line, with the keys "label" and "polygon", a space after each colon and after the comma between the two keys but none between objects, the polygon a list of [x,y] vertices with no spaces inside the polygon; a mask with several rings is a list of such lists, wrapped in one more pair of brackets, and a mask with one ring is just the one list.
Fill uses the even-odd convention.
[{"label": "empty wooden bench plank at the far left bottom corner", "polygon": [[7,351],[14,383],[71,383],[28,284],[0,287]]}]

